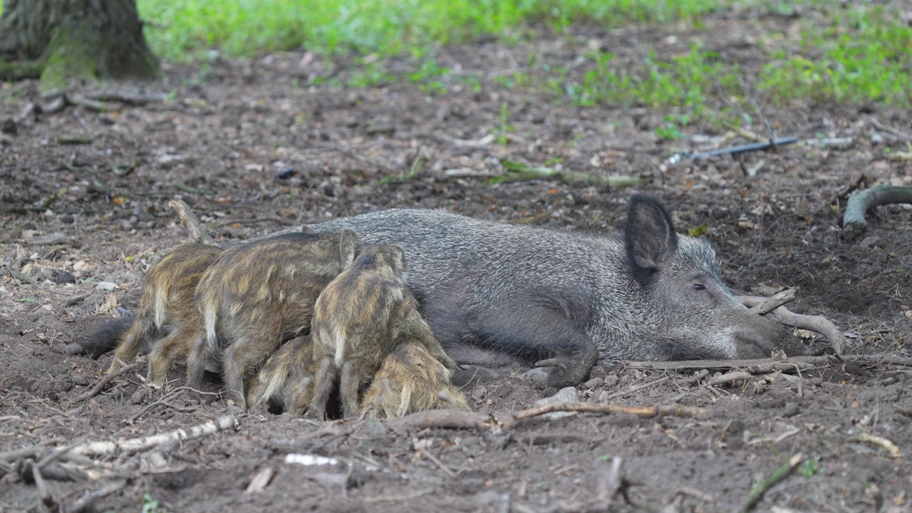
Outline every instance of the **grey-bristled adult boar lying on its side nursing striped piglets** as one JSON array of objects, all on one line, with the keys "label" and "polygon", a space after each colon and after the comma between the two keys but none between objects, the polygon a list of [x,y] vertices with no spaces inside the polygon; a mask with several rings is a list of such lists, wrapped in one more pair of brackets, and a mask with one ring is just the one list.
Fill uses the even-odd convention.
[{"label": "grey-bristled adult boar lying on its side nursing striped piglets", "polygon": [[710,244],[676,234],[648,195],[631,198],[623,234],[605,236],[437,210],[308,227],[401,246],[409,288],[454,361],[534,365],[557,387],[583,382],[596,361],[759,357],[785,333],[731,296]]}]

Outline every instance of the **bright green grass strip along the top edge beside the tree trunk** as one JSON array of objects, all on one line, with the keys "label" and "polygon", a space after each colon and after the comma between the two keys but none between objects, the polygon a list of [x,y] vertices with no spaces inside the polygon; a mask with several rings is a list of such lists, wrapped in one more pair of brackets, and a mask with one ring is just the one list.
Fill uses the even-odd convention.
[{"label": "bright green grass strip along the top edge beside the tree trunk", "polygon": [[542,23],[619,26],[700,16],[732,0],[137,0],[161,57],[218,48],[229,57],[306,48],[399,55],[479,36],[515,40]]}]

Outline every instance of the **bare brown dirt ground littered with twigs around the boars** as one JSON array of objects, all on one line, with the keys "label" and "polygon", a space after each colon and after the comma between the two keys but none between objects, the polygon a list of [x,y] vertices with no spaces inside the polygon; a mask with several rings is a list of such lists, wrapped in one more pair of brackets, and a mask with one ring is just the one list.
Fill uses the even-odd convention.
[{"label": "bare brown dirt ground littered with twigs around the boars", "polygon": [[[741,44],[744,37],[790,34],[795,23],[720,13],[699,32],[580,28],[514,47],[477,41],[440,50],[440,66],[456,70],[445,94],[410,83],[310,87],[317,75],[345,80],[353,68],[328,67],[303,52],[216,58],[166,65],[161,84],[147,91],[166,93],[163,101],[5,121],[0,511],[57,504],[73,511],[83,499],[89,511],[154,510],[153,501],[158,511],[586,511],[605,510],[609,501],[611,509],[731,511],[793,455],[803,459],[766,491],[759,510],[908,510],[912,374],[897,365],[833,362],[720,385],[693,379],[693,371],[596,368],[577,389],[582,401],[679,403],[709,413],[571,414],[498,434],[242,414],[218,395],[201,401],[186,393],[181,366],[165,390],[145,385],[140,365],[86,398],[111,355],[91,360],[64,349],[135,309],[143,272],[186,239],[167,209],[172,198],[191,204],[223,241],[389,207],[445,208],[559,230],[623,225],[634,190],[487,183],[485,176],[502,171],[498,160],[509,158],[602,176],[650,173],[653,183],[636,190],[663,200],[680,232],[706,225],[731,288],[756,295],[797,288],[789,308],[832,319],[847,335],[846,353],[909,356],[912,209],[880,207],[863,240],[840,238],[845,191],[861,177],[912,185],[910,164],[885,152],[905,151],[906,140],[875,122],[912,133],[907,110],[761,103],[753,131],[852,142],[669,165],[675,152],[743,140],[720,141],[718,130],[692,124],[686,139],[660,141],[660,112],[575,107],[494,80],[523,70],[517,63],[530,55],[579,73],[572,63],[592,47],[636,62],[648,47],[671,55],[697,39],[751,70],[762,63],[761,50]],[[465,77],[481,87],[459,79]],[[0,120],[15,119],[29,101],[42,101],[36,83],[4,84]],[[487,144],[455,141],[489,134],[495,141]],[[500,135],[506,141],[497,141]],[[378,183],[418,157],[427,164],[416,176]],[[756,176],[747,176],[761,161]],[[829,344],[796,331],[792,351],[823,354]],[[522,372],[469,387],[472,407],[509,414],[556,392],[524,381]],[[217,381],[209,385],[218,392]],[[163,434],[230,414],[236,428],[193,440],[65,457],[66,465],[48,458],[44,488],[26,461],[54,455],[55,446]],[[290,454],[337,463],[286,463]],[[616,457],[627,499],[608,482]],[[275,476],[263,491],[245,493],[254,476],[270,470]]]}]

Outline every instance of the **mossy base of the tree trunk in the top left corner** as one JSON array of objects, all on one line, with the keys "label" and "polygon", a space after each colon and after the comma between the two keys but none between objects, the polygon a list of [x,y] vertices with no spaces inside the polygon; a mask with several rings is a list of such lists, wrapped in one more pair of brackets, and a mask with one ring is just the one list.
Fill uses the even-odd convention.
[{"label": "mossy base of the tree trunk in the top left corner", "polygon": [[0,78],[154,79],[159,65],[142,36],[135,0],[5,0]]}]

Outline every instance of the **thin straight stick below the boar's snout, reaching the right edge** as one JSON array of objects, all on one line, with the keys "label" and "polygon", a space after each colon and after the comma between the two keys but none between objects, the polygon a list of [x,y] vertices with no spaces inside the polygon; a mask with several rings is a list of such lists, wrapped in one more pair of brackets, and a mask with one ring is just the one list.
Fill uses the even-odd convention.
[{"label": "thin straight stick below the boar's snout, reaching the right edge", "polygon": [[652,371],[685,371],[694,369],[744,369],[747,372],[763,374],[770,372],[804,371],[810,367],[825,365],[831,361],[858,361],[880,365],[912,367],[912,358],[889,354],[843,354],[840,356],[794,356],[784,361],[770,358],[751,360],[685,360],[685,361],[625,361],[628,369],[649,369]]}]

